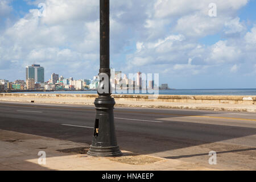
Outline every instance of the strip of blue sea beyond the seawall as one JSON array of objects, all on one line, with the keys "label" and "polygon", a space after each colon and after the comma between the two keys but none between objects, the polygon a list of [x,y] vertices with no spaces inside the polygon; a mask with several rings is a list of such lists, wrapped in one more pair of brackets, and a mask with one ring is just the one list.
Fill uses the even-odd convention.
[{"label": "strip of blue sea beyond the seawall", "polygon": [[[121,92],[121,90],[119,90]],[[54,94],[97,94],[96,90],[56,91],[56,92],[23,92],[23,93],[54,93]],[[154,94],[135,90],[133,93],[116,94]],[[159,90],[160,95],[190,95],[190,96],[256,96],[256,89],[167,89]]]}]

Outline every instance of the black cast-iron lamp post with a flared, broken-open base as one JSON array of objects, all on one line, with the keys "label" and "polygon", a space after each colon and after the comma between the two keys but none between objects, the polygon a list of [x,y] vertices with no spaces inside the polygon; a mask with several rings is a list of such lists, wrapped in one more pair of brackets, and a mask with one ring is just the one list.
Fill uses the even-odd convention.
[{"label": "black cast-iron lamp post with a flared, broken-open base", "polygon": [[109,0],[100,0],[100,84],[98,95],[94,101],[96,119],[92,145],[88,155],[93,156],[120,156],[122,152],[117,145],[114,127],[114,98],[110,89],[109,64]]}]

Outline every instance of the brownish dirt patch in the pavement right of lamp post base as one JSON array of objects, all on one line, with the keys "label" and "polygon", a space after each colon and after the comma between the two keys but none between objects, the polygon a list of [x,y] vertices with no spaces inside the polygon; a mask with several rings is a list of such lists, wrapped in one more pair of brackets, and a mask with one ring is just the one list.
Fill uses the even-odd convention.
[{"label": "brownish dirt patch in the pavement right of lamp post base", "polygon": [[155,158],[148,155],[140,155],[140,154],[134,154],[134,153],[128,153],[128,152],[123,153],[123,156],[113,157],[108,159],[114,162],[120,162],[125,164],[132,164],[132,165],[146,165],[146,164],[152,164],[152,163],[156,163],[164,160],[161,158]]}]

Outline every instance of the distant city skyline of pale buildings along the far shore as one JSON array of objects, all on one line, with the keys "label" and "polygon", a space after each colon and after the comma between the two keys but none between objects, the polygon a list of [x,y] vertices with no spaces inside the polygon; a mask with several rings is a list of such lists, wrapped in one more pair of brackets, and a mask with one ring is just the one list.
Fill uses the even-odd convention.
[{"label": "distant city skyline of pale buildings along the far shore", "polygon": [[[47,69],[46,69],[47,70]],[[159,75],[152,75],[146,73],[134,73],[126,75],[122,71],[115,71],[110,69],[110,85],[112,85],[113,92],[115,90],[155,90],[169,89],[168,84],[159,84]],[[59,76],[59,74],[52,73],[48,81],[44,81],[44,67],[39,64],[32,64],[26,67],[26,80],[16,78],[15,81],[0,78],[0,91],[11,92],[24,90],[39,90],[44,91],[67,91],[67,90],[96,90],[100,85],[100,76],[93,76],[93,78],[79,78]],[[143,91],[144,92],[144,91]],[[148,91],[149,92],[149,91]]]}]

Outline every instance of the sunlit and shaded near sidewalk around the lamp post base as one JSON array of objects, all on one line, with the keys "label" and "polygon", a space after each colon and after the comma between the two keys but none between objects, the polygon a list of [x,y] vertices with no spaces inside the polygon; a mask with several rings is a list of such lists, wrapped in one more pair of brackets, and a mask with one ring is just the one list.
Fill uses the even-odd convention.
[{"label": "sunlit and shaded near sidewalk around the lamp post base", "polygon": [[[156,158],[122,151],[123,156],[88,156],[89,145],[66,140],[0,130],[0,171],[171,171],[213,170],[180,160]],[[39,151],[46,152],[46,164],[39,164]]]}]

